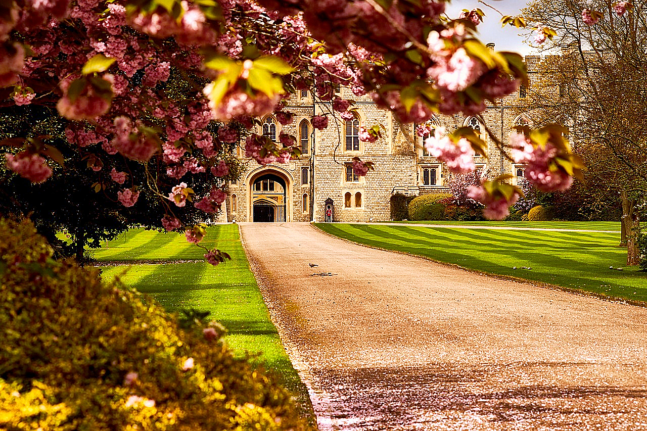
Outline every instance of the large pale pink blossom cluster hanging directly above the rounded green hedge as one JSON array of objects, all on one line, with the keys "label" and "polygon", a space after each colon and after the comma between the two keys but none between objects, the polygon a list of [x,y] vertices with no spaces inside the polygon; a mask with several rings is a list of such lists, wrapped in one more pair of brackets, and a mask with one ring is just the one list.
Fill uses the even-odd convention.
[{"label": "large pale pink blossom cluster hanging directly above the rounded green hedge", "polygon": [[445,162],[452,173],[468,173],[476,169],[474,149],[470,141],[460,138],[454,142],[444,135],[444,127],[436,127],[433,136],[424,140],[424,149],[433,157]]}]

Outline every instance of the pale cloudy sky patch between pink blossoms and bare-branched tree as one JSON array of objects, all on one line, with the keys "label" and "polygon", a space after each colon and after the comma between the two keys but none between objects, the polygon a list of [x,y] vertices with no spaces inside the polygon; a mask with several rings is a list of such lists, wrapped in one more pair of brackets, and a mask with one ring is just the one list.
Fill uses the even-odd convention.
[{"label": "pale cloudy sky patch between pink blossoms and bare-branched tree", "polygon": [[[526,6],[524,0],[484,1],[488,5],[498,9],[503,15],[511,16],[519,15],[521,8]],[[498,51],[514,51],[522,55],[535,52],[524,42],[521,36],[518,36],[520,32],[518,28],[510,25],[501,28],[501,15],[491,8],[488,8],[488,6],[483,5],[483,3],[479,3],[477,0],[453,0],[452,3],[446,5],[445,11],[450,18],[456,18],[461,13],[461,10],[472,10],[474,8],[480,8],[485,12],[483,23],[478,27],[483,43],[494,42],[495,49]]]}]

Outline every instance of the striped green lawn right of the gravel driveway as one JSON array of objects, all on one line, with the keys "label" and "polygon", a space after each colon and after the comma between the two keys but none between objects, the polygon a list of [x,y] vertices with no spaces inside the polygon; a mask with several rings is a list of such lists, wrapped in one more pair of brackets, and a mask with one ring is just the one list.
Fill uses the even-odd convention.
[{"label": "striped green lawn right of the gravel driveway", "polygon": [[[481,227],[527,227],[523,222],[469,224]],[[637,267],[624,267],[626,249],[617,247],[619,223],[542,222],[531,223],[531,226],[617,230],[617,233],[470,229],[451,225],[316,224],[316,227],[334,236],[380,249],[397,250],[475,271],[549,283],[647,305],[647,273],[639,272]],[[624,271],[611,270],[610,266],[624,267]],[[532,270],[521,267],[531,267]]]}]

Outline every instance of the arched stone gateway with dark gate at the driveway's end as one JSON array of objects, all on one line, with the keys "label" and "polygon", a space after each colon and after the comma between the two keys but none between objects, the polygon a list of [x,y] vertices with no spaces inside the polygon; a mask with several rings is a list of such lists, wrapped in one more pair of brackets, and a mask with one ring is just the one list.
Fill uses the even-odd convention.
[{"label": "arched stone gateway with dark gate at the driveway's end", "polygon": [[248,178],[248,220],[257,223],[292,221],[291,175],[274,168],[261,168]]}]

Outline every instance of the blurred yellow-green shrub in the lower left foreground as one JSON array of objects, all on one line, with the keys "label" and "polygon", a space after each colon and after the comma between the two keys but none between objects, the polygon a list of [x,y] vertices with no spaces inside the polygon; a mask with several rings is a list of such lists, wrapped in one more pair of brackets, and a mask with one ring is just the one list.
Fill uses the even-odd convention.
[{"label": "blurred yellow-green shrub in the lower left foreground", "polygon": [[32,223],[0,220],[0,429],[303,429],[217,324],[51,254]]}]

